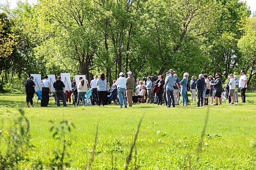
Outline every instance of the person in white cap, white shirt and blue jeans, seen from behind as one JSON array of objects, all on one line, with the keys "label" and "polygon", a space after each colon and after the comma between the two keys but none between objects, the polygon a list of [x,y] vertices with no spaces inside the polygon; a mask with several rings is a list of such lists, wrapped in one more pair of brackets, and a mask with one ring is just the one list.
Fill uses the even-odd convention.
[{"label": "person in white cap, white shirt and blue jeans, seen from behind", "polygon": [[119,103],[120,103],[120,108],[127,107],[127,102],[125,99],[125,88],[126,88],[126,79],[124,77],[123,72],[120,72],[119,78],[116,80],[115,85],[117,86],[117,93],[118,93],[118,98],[119,98]]}]

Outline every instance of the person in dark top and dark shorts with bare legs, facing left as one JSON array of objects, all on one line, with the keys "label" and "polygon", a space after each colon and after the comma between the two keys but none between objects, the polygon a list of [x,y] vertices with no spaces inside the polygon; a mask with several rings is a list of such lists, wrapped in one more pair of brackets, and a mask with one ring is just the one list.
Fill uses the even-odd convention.
[{"label": "person in dark top and dark shorts with bare legs, facing left", "polygon": [[216,100],[215,106],[219,105],[219,100],[220,100],[220,105],[222,104],[222,99],[221,99],[221,93],[223,92],[222,88],[222,82],[221,82],[221,74],[219,72],[216,72],[215,74],[216,80],[214,83],[211,83],[210,85],[214,86],[214,97]]}]

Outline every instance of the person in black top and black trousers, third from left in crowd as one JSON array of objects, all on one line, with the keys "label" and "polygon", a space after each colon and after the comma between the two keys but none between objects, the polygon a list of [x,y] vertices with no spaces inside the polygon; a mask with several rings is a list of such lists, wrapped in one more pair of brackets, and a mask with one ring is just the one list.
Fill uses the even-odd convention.
[{"label": "person in black top and black trousers, third from left in crowd", "polygon": [[63,102],[63,106],[66,107],[67,103],[66,103],[66,99],[65,99],[65,96],[64,96],[64,92],[63,92],[63,88],[65,87],[65,85],[61,81],[60,76],[58,76],[56,81],[53,83],[53,87],[55,88],[57,106],[60,106],[59,105],[59,99],[61,98],[61,100]]}]

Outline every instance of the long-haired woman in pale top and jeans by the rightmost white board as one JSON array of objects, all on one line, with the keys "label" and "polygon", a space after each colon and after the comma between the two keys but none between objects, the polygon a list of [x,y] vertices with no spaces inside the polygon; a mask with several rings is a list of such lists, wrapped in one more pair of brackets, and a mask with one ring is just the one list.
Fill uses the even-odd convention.
[{"label": "long-haired woman in pale top and jeans by the rightmost white board", "polygon": [[86,105],[86,93],[88,92],[88,80],[84,80],[82,79],[82,77],[79,77],[79,84],[77,87],[77,92],[78,92],[78,98],[77,98],[77,102],[76,102],[76,107],[79,104],[80,99],[82,98],[82,105]]}]

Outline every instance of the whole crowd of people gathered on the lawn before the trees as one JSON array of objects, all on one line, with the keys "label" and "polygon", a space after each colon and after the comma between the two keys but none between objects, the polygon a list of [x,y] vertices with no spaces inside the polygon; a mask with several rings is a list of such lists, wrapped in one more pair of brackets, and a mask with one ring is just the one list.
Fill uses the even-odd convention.
[{"label": "whole crowd of people gathered on the lawn before the trees", "polygon": [[[192,76],[190,82],[188,81],[189,75],[187,72],[183,74],[183,78],[180,80],[173,69],[169,69],[169,71],[165,72],[165,79],[163,75],[159,75],[154,79],[147,77],[143,81],[139,79],[135,81],[132,71],[126,72],[127,78],[125,78],[123,72],[120,72],[119,78],[113,81],[111,87],[108,85],[108,80],[102,72],[99,78],[95,75],[90,84],[88,80],[80,77],[79,84],[77,85],[76,80],[73,79],[71,91],[63,90],[65,84],[61,81],[60,76],[58,76],[53,83],[53,87],[51,87],[48,76],[45,76],[44,80],[41,81],[42,98],[40,106],[48,106],[51,88],[55,89],[57,106],[60,106],[60,100],[63,106],[67,106],[68,101],[71,103],[71,96],[73,97],[74,106],[79,106],[80,103],[84,106],[86,105],[86,95],[89,91],[91,92],[91,104],[98,105],[99,107],[101,105],[104,107],[114,101],[115,104],[119,103],[120,108],[123,106],[125,108],[132,107],[133,104],[137,103],[164,104],[165,107],[170,108],[180,104],[180,95],[182,106],[185,107],[188,105],[188,91],[191,92],[191,101],[196,102],[196,98],[198,99],[197,107],[214,104],[214,99],[214,105],[222,105],[223,97],[229,101],[230,105],[233,105],[238,102],[239,89],[241,91],[242,102],[245,103],[247,78],[243,69],[240,73],[240,79],[238,79],[236,75],[230,74],[223,88],[221,74],[219,72],[216,72],[215,76],[200,74],[198,79]],[[35,86],[33,77],[29,77],[25,84],[28,107],[33,107]],[[65,98],[65,93],[67,94],[67,99]]]}]

